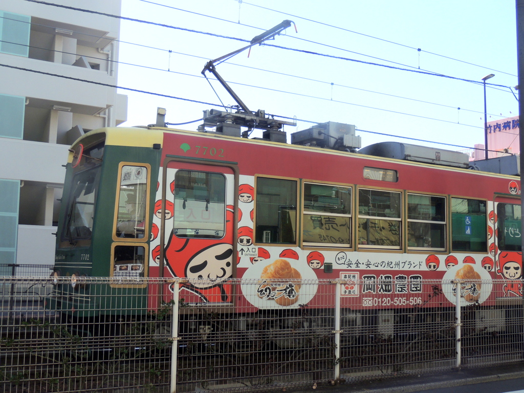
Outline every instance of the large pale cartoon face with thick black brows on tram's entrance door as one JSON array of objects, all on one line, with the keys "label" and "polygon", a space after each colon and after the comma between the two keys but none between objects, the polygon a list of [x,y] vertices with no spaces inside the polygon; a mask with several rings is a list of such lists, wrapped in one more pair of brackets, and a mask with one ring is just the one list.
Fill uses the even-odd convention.
[{"label": "large pale cartoon face with thick black brows on tram's entrance door", "polygon": [[231,244],[214,244],[193,255],[185,265],[185,277],[192,279],[190,282],[195,288],[212,288],[231,277],[232,266]]}]

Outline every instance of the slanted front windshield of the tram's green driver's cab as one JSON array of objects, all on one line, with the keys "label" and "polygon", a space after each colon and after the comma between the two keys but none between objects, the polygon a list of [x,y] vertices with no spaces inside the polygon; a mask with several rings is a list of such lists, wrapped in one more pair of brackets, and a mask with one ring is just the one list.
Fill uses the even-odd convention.
[{"label": "slanted front windshield of the tram's green driver's cab", "polygon": [[69,240],[71,243],[74,240],[91,238],[100,169],[99,165],[75,173],[71,185],[71,199],[63,226],[63,241]]}]

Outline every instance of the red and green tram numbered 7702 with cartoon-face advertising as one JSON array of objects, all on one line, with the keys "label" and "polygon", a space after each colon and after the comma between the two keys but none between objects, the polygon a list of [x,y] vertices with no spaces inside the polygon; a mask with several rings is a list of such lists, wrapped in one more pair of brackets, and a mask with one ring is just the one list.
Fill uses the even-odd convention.
[{"label": "red and green tram numbered 7702 with cartoon-face advertising", "polygon": [[[184,279],[186,304],[232,315],[315,304],[300,280],[363,280],[341,294],[362,312],[421,303],[426,279],[470,279],[464,304],[495,304],[479,280],[503,279],[500,293],[522,298],[517,156],[472,168],[456,151],[361,148],[348,124],[318,124],[287,143],[288,123],[264,113],[207,115],[198,131],[162,123],[75,141],[48,308],[86,318],[154,310],[158,293],[144,278],[160,277]],[[253,124],[262,138],[242,131]],[[101,289],[91,277],[111,280]],[[233,290],[231,279],[257,285]],[[384,302],[367,296],[377,292]],[[444,294],[451,307],[456,294]],[[100,307],[104,297],[111,307]]]}]

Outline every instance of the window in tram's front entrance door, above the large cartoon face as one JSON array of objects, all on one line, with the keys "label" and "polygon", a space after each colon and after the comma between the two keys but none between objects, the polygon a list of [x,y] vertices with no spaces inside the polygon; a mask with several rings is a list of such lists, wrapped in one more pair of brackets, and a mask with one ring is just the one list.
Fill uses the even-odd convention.
[{"label": "window in tram's front entrance door, above the large cartoon face", "polygon": [[220,239],[225,234],[226,178],[222,173],[181,169],[174,176],[173,233]]}]

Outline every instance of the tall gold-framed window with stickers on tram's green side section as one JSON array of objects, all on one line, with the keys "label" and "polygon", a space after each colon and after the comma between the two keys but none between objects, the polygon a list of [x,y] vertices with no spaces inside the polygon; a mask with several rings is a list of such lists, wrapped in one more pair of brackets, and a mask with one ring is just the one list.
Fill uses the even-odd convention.
[{"label": "tall gold-framed window with stickers on tram's green side section", "polygon": [[145,236],[147,168],[123,165],[118,192],[116,237],[141,239]]}]

